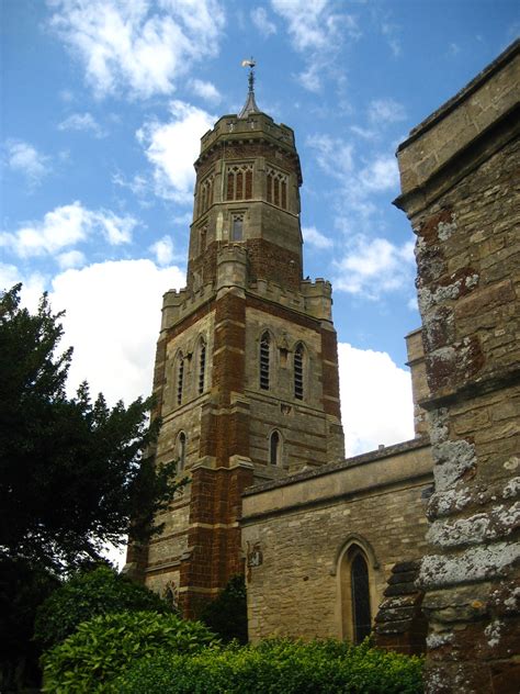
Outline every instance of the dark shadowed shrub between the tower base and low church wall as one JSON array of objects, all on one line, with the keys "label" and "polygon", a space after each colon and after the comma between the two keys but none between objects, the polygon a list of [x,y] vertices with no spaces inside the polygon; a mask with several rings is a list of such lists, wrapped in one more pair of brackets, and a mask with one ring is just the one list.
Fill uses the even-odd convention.
[{"label": "dark shadowed shrub between the tower base and low church wall", "polygon": [[224,642],[237,639],[247,643],[247,596],[244,575],[234,575],[219,595],[207,604],[201,622]]}]

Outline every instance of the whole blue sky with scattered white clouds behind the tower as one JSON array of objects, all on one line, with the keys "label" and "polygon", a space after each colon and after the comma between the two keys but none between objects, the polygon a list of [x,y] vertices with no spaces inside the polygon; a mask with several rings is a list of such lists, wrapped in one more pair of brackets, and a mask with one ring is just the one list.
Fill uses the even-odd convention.
[{"label": "whole blue sky with scattered white clouds behind the tower", "polygon": [[519,33],[517,2],[2,0],[0,286],[49,291],[71,384],[150,389],[184,283],[202,134],[245,101],[294,128],[305,275],[332,280],[349,454],[412,434],[420,323],[395,149]]}]

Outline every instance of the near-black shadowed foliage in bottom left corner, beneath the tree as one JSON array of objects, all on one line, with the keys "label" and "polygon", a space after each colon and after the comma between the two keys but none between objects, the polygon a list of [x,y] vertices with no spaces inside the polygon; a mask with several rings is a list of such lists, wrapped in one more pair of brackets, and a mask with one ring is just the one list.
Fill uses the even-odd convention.
[{"label": "near-black shadowed foliage in bottom left corner, beneath the tree", "polygon": [[37,686],[41,650],[32,642],[34,616],[58,585],[44,569],[0,558],[0,692]]}]

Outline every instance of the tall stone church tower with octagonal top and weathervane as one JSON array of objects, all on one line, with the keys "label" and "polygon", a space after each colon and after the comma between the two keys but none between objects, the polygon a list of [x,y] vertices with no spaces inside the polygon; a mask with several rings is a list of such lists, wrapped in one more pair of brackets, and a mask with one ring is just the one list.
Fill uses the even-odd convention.
[{"label": "tall stone church tower with octagonal top and weathervane", "polygon": [[190,483],[128,552],[188,617],[244,572],[242,491],[343,458],[331,287],[303,279],[294,133],[258,109],[249,68],[241,112],[202,137],[186,287],[163,296],[156,459]]}]

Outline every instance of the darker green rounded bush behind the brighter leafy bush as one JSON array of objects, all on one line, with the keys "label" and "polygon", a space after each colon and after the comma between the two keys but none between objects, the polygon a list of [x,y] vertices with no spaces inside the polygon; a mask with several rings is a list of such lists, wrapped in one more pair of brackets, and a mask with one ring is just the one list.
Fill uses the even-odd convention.
[{"label": "darker green rounded bush behind the brighter leafy bush", "polygon": [[168,603],[152,591],[100,566],[75,575],[38,607],[34,638],[47,650],[98,615],[145,609],[171,613]]}]

